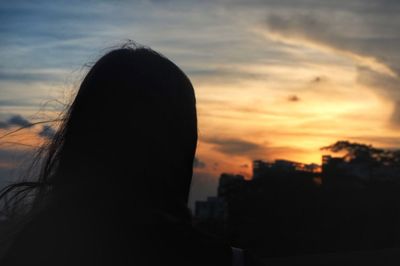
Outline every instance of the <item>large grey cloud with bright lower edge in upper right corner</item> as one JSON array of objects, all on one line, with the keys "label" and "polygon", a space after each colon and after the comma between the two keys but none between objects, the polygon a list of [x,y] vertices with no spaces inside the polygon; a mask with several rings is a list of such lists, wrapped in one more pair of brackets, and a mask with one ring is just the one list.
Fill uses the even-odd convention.
[{"label": "large grey cloud with bright lower edge in upper right corner", "polygon": [[[272,11],[267,14],[267,37],[291,45],[304,45],[347,57],[357,66],[357,82],[367,85],[393,101],[396,108],[390,122],[400,124],[397,117],[400,100],[400,19],[393,10],[400,2],[367,1],[354,5],[335,4],[307,10],[302,8]],[[368,12],[365,12],[368,11]],[[315,83],[321,80],[315,80]]]}]

